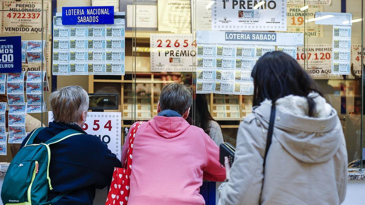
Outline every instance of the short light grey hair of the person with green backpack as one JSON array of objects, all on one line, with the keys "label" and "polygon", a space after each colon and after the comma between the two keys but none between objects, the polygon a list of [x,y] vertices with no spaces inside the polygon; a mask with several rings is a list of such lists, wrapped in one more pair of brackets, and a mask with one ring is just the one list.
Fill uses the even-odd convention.
[{"label": "short light grey hair of the person with green backpack", "polygon": [[56,122],[74,124],[82,112],[88,111],[89,96],[80,86],[67,86],[51,93],[49,97],[53,118]]}]

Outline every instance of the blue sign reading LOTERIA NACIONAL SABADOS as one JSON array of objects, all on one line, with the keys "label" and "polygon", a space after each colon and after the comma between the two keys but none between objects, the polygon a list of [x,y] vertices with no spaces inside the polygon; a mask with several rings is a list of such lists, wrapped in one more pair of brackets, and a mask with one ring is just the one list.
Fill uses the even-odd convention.
[{"label": "blue sign reading LOTERIA NACIONAL SABADOS", "polygon": [[62,7],[62,25],[114,24],[114,6]]}]

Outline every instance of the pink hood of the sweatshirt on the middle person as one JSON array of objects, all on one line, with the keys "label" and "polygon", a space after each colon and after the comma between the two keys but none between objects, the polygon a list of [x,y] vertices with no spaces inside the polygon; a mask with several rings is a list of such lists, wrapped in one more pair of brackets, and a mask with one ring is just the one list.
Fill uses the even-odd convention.
[{"label": "pink hood of the sweatshirt on the middle person", "polygon": [[190,127],[190,124],[183,117],[154,116],[148,122],[164,138],[177,137]]}]

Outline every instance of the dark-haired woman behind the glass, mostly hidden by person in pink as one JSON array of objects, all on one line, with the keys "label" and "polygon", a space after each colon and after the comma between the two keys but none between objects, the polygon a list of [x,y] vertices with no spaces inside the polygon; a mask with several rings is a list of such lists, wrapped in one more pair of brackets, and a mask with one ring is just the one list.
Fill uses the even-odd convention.
[{"label": "dark-haired woman behind the glass, mostly hidden by person in pink", "polygon": [[[179,82],[192,87],[193,78],[191,75],[181,75]],[[189,117],[186,119],[189,124],[200,127],[204,132],[210,136],[210,138],[219,146],[223,143],[222,129],[218,122],[214,120],[209,112],[207,96],[205,94],[195,94],[193,96],[193,105],[191,108],[195,113],[194,119],[192,119],[192,112],[189,113]]]}]

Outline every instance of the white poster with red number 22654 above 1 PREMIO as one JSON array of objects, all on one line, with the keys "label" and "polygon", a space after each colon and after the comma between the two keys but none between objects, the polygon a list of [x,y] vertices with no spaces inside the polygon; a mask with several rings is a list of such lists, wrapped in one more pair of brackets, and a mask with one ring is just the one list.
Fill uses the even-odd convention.
[{"label": "white poster with red number 22654 above 1 PREMIO", "polygon": [[151,34],[152,72],[192,72],[196,42],[192,34]]}]

